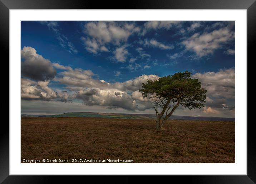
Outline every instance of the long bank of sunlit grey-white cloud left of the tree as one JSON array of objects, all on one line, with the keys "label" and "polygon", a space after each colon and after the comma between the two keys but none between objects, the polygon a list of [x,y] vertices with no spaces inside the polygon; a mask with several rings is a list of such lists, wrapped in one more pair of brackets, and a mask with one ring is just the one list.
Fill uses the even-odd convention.
[{"label": "long bank of sunlit grey-white cloud left of the tree", "polygon": [[60,72],[59,77],[54,81],[66,85],[65,88],[74,92],[74,98],[82,100],[88,106],[123,108],[129,111],[143,111],[151,108],[151,104],[142,96],[138,96],[135,91],[140,89],[142,83],[146,83],[148,79],[157,80],[158,76],[142,75],[124,82],[107,83],[104,80],[94,79],[94,75],[90,70],[75,68]]}]

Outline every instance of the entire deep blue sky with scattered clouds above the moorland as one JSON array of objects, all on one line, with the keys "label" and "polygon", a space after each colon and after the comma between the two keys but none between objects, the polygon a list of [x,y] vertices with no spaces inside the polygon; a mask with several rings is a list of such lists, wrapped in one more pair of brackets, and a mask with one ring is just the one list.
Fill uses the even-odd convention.
[{"label": "entire deep blue sky with scattered clouds above the moorland", "polygon": [[176,115],[234,117],[235,21],[21,21],[21,113],[154,113],[141,83],[186,70],[207,103]]}]

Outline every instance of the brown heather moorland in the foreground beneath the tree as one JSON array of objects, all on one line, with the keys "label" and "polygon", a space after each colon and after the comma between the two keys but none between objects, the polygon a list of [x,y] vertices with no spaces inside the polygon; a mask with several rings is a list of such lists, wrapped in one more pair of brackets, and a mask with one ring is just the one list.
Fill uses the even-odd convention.
[{"label": "brown heather moorland in the foreground beneath the tree", "polygon": [[23,159],[235,163],[235,122],[21,117]]}]

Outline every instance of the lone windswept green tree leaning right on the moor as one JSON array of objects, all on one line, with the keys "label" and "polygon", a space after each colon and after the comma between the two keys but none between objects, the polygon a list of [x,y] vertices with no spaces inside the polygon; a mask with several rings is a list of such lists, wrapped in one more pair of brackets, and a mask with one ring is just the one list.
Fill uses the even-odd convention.
[{"label": "lone windswept green tree leaning right on the moor", "polygon": [[192,73],[188,71],[178,72],[156,81],[148,80],[147,83],[142,84],[139,92],[151,101],[156,111],[157,129],[163,127],[179,105],[188,109],[204,107],[207,91],[201,88],[201,82],[198,79],[192,79],[191,75]]}]

